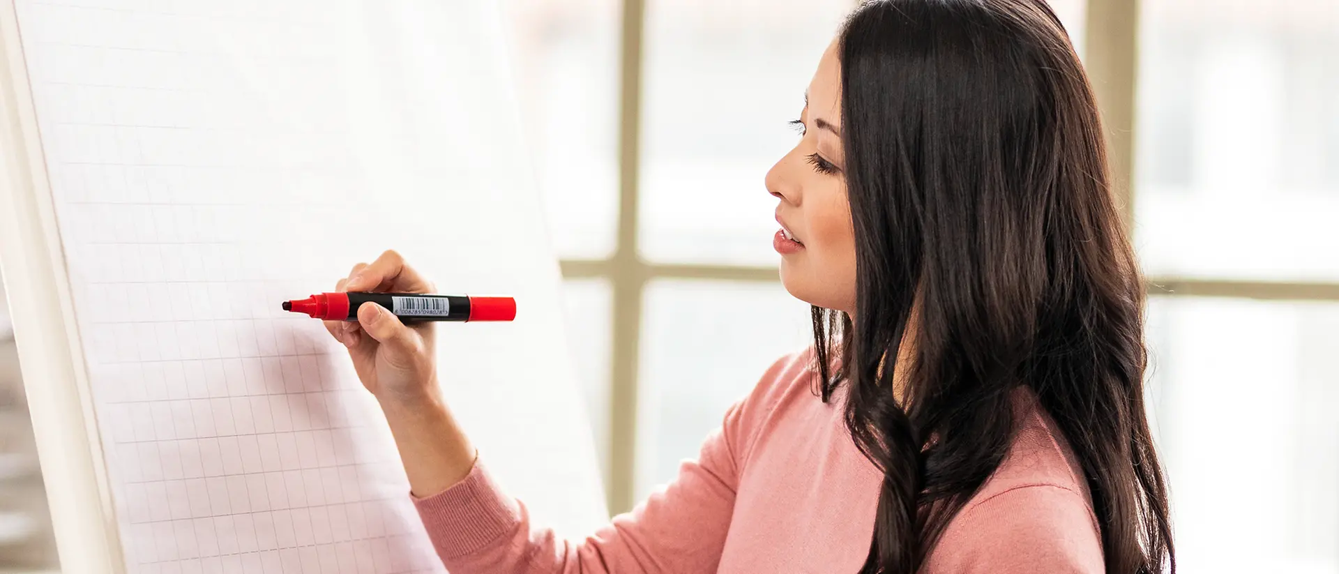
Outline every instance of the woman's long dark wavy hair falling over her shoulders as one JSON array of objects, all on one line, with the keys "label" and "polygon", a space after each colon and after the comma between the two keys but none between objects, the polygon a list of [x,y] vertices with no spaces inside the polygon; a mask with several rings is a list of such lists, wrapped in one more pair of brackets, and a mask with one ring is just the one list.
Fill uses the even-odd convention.
[{"label": "woman's long dark wavy hair falling over her shoulders", "polygon": [[856,312],[813,320],[819,393],[849,387],[884,472],[862,571],[920,567],[1008,452],[1019,387],[1077,455],[1106,571],[1174,571],[1144,285],[1059,20],[1043,0],[876,0],[838,41]]}]

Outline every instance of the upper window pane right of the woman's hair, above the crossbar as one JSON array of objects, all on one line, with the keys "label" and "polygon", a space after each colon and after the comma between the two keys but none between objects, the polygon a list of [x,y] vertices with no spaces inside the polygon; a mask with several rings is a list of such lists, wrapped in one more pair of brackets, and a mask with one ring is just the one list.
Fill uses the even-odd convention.
[{"label": "upper window pane right of the woman's hair, above the crossbar", "polygon": [[1142,4],[1134,205],[1148,272],[1339,281],[1334,1]]}]

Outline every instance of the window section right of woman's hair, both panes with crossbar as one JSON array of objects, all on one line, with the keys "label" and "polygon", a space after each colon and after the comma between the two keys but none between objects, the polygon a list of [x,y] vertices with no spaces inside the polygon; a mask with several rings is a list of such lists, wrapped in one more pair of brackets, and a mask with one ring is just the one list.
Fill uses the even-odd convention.
[{"label": "window section right of woman's hair, both panes with crossbar", "polygon": [[1180,566],[1339,571],[1339,11],[1139,17],[1135,245]]}]

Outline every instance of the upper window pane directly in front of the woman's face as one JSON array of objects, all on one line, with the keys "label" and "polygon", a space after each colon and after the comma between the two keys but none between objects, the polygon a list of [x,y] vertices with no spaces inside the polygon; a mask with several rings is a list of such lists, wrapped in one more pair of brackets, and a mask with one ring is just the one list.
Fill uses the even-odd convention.
[{"label": "upper window pane directly in front of the woman's face", "polygon": [[651,0],[639,248],[655,261],[777,265],[763,175],[850,0]]}]

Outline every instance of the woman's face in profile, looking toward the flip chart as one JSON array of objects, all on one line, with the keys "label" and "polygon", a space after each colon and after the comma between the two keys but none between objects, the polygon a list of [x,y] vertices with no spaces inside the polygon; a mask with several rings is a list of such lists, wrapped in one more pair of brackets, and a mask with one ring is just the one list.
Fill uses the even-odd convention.
[{"label": "woman's face in profile, looking toward the flip chart", "polygon": [[781,199],[782,229],[773,238],[781,253],[781,282],[810,305],[854,313],[856,238],[846,202],[836,41],[818,62],[805,102],[803,136],[767,171],[767,191]]}]

